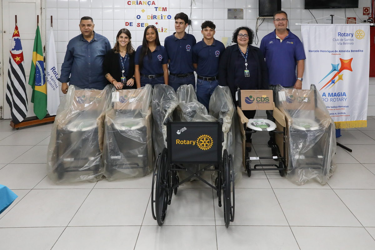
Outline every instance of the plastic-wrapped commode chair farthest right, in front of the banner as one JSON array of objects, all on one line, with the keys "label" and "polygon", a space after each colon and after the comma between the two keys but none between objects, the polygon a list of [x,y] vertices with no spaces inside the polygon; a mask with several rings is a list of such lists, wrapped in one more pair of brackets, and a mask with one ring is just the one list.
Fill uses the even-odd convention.
[{"label": "plastic-wrapped commode chair farthest right, in front of the banner", "polygon": [[336,169],[335,123],[315,85],[309,90],[278,85],[276,107],[287,125],[287,178],[298,185],[313,178],[326,184]]}]

